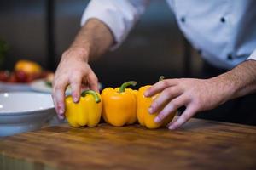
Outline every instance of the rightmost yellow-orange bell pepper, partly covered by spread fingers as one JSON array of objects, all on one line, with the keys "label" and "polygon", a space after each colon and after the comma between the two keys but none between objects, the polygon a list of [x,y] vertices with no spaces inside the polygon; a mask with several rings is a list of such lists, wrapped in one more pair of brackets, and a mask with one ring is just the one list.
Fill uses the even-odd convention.
[{"label": "rightmost yellow-orange bell pepper, partly covered by spread fingers", "polygon": [[[160,77],[160,81],[164,77]],[[144,92],[150,88],[151,85],[143,86],[139,88],[138,94],[137,94],[137,120],[143,127],[148,128],[159,128],[159,127],[166,127],[166,125],[172,121],[173,117],[176,115],[176,111],[172,112],[169,116],[167,116],[162,122],[156,123],[154,122],[154,118],[159,114],[158,112],[155,112],[153,114],[150,114],[148,112],[148,108],[156,99],[159,94],[155,94],[153,97],[145,97]]]}]

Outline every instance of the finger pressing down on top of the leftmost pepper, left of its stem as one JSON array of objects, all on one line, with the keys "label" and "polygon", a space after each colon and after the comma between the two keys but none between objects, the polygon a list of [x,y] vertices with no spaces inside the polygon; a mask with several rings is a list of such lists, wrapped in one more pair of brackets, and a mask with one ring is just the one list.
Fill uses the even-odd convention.
[{"label": "finger pressing down on top of the leftmost pepper, left of its stem", "polygon": [[72,98],[73,102],[77,103],[80,99],[80,92],[81,92],[81,77],[76,75],[70,78],[70,86],[72,89]]}]

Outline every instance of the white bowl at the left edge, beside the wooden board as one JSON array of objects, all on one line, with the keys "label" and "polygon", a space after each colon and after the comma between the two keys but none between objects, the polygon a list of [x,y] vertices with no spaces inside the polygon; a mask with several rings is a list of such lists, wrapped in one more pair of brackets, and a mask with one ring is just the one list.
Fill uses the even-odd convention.
[{"label": "white bowl at the left edge, beside the wooden board", "polygon": [[36,130],[54,115],[50,94],[0,93],[0,136]]}]

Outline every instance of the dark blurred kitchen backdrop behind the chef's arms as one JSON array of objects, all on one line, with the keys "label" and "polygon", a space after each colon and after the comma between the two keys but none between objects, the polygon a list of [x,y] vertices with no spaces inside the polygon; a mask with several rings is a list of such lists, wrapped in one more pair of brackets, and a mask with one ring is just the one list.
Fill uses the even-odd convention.
[{"label": "dark blurred kitchen backdrop behind the chef's arms", "polygon": [[[17,60],[31,59],[55,71],[61,54],[79,31],[88,3],[88,0],[1,1],[0,39],[9,45],[1,69],[12,70]],[[128,80],[136,80],[140,86],[156,82],[160,75],[198,77],[201,58],[195,50],[189,52],[185,44],[166,1],[153,0],[123,45],[90,65],[104,86],[119,86]],[[191,61],[185,52],[191,54]]]}]

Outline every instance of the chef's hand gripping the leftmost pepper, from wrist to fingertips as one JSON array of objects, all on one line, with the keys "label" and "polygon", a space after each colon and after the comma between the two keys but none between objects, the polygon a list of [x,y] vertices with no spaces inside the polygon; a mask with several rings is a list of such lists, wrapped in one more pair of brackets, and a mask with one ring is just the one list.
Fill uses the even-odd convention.
[{"label": "chef's hand gripping the leftmost pepper, from wrist to fingertips", "polygon": [[98,79],[88,64],[89,53],[84,48],[69,48],[62,54],[61,61],[55,72],[53,94],[55,110],[60,119],[64,119],[65,91],[70,84],[74,102],[79,102],[81,84],[85,88],[98,90]]}]

